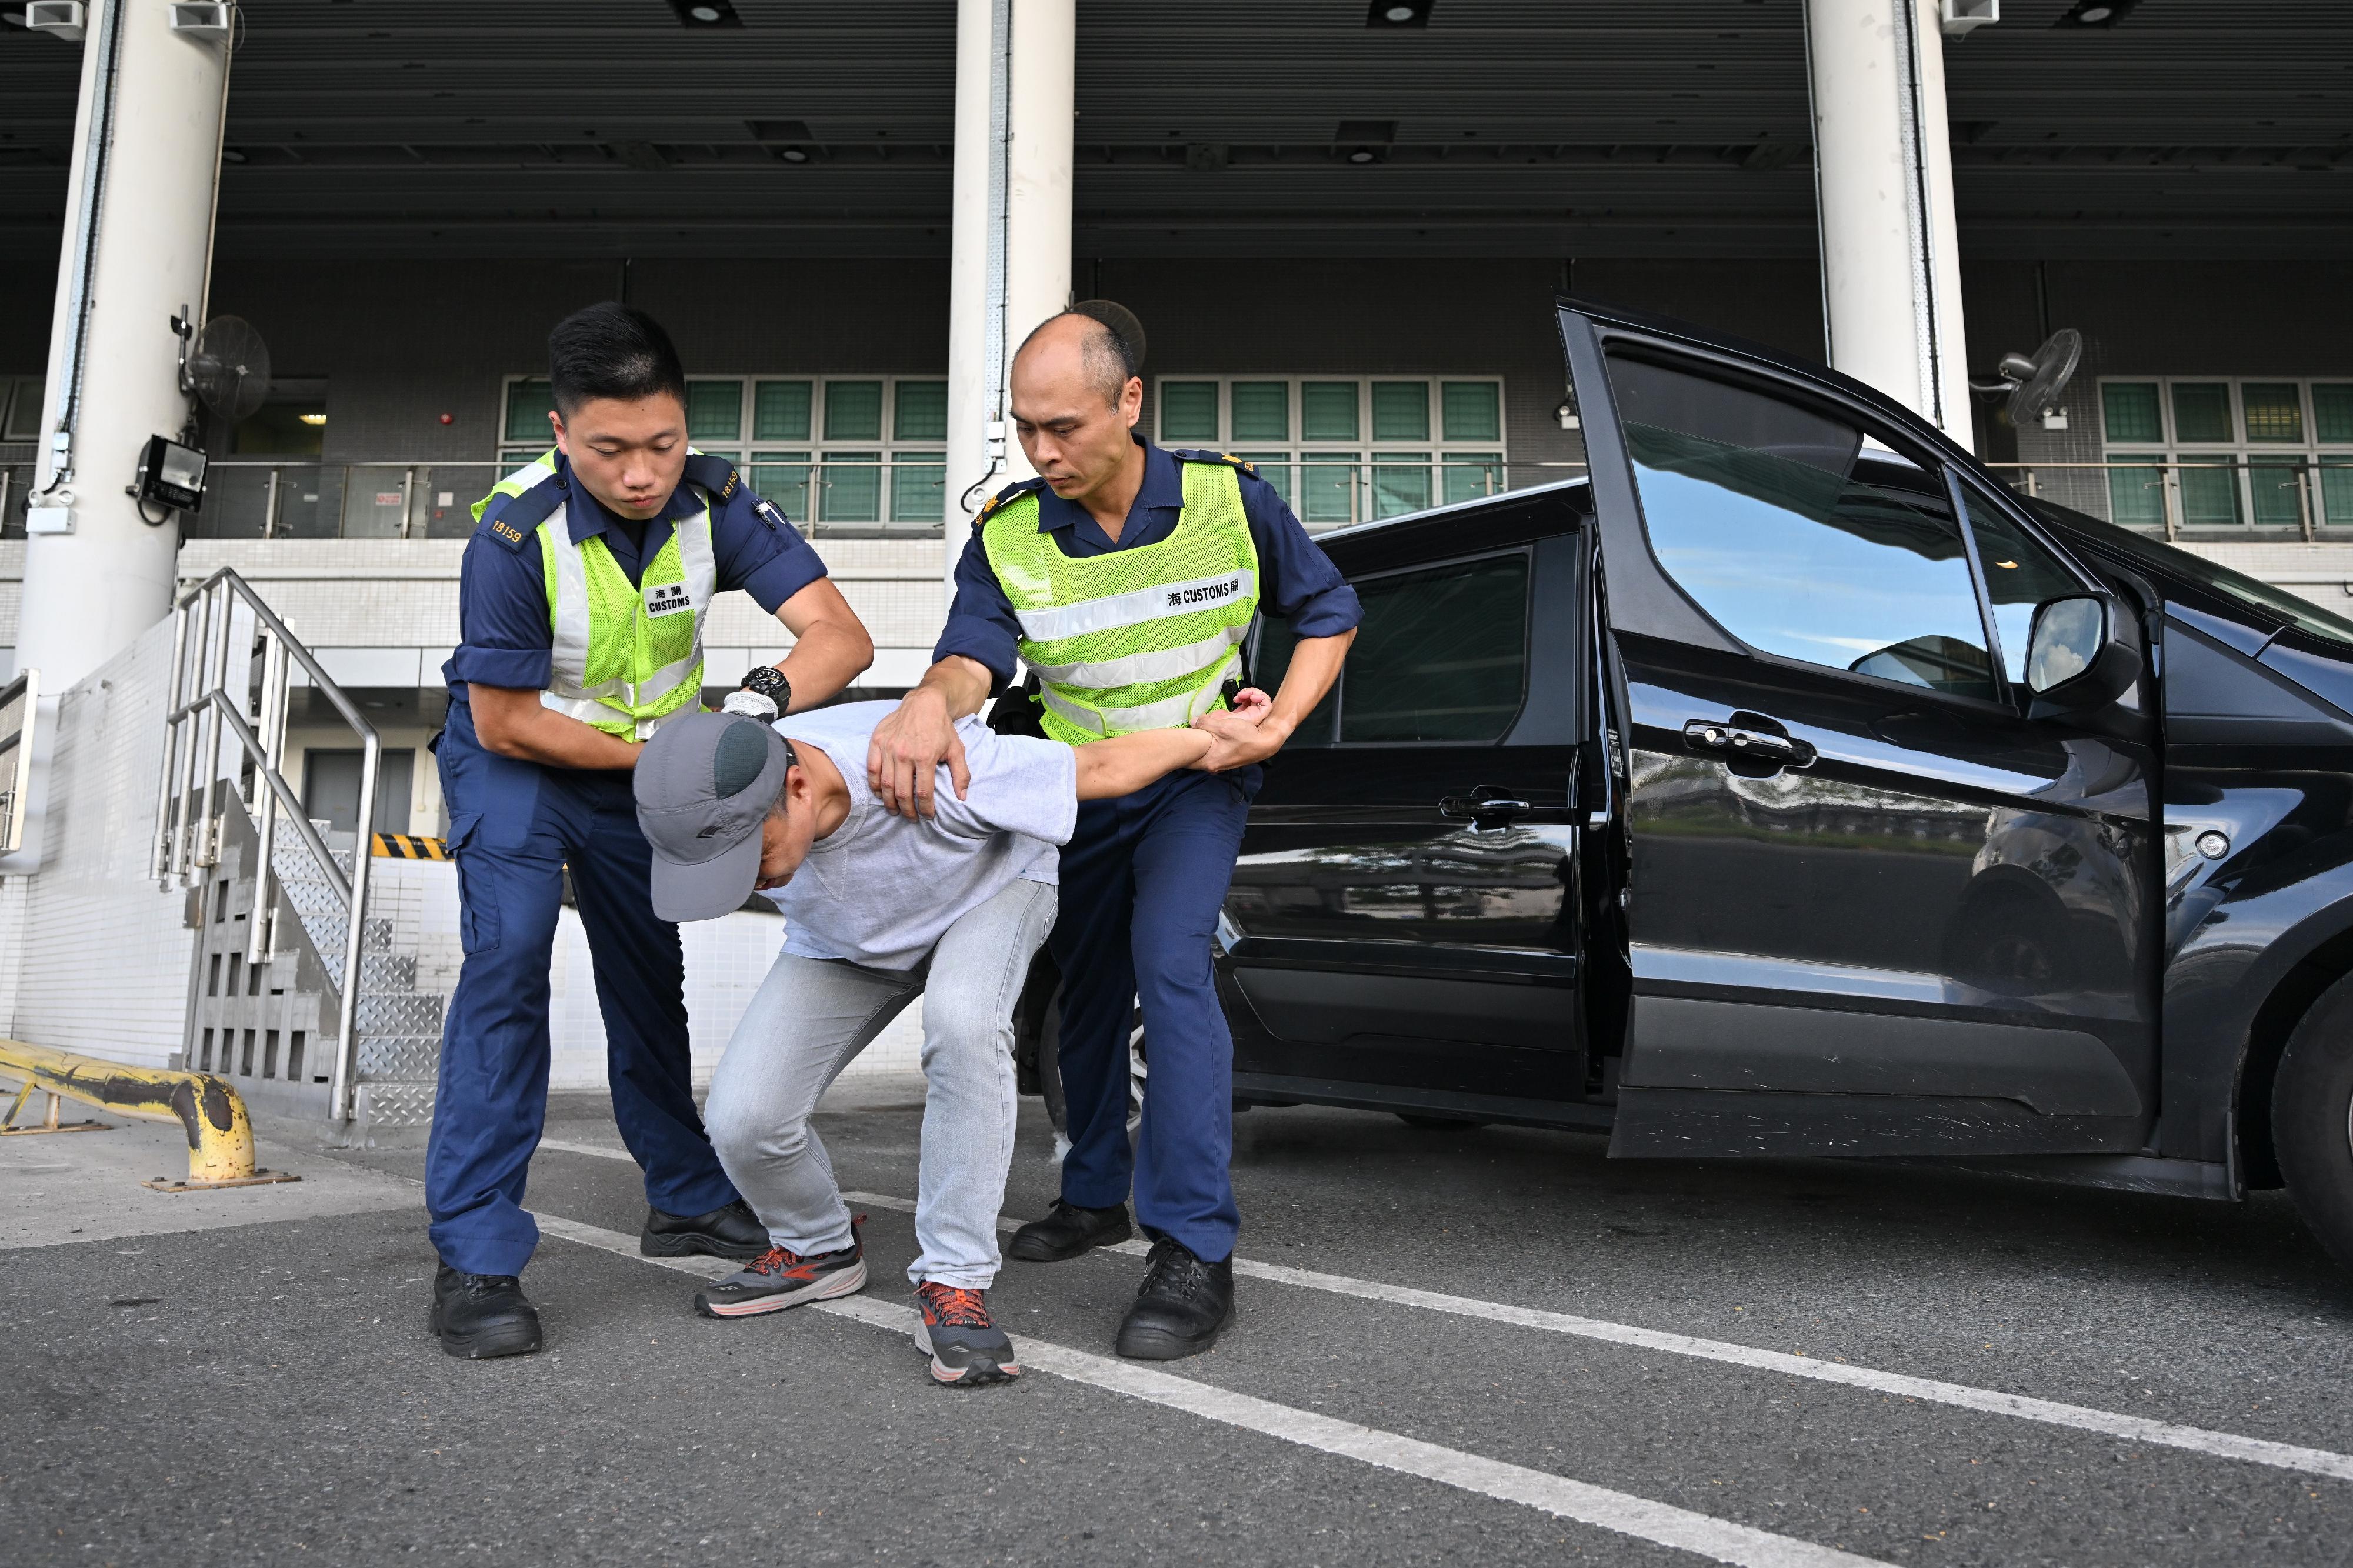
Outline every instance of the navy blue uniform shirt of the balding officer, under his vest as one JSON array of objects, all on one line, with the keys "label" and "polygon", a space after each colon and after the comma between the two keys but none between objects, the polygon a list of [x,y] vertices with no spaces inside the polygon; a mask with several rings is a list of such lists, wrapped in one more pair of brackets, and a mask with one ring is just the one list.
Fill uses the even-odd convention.
[{"label": "navy blue uniform shirt of the balding officer, under his vest", "polygon": [[[1176,513],[1184,511],[1184,464],[1141,436],[1134,440],[1144,447],[1144,487],[1136,490],[1136,501],[1127,509],[1118,544],[1111,542],[1101,523],[1087,516],[1085,506],[1064,501],[1052,490],[1038,490],[1038,532],[1054,534],[1064,556],[1085,560],[1087,556],[1132,551],[1139,544],[1160,544],[1176,532]],[[1299,525],[1275,487],[1247,469],[1235,469],[1235,478],[1242,483],[1249,542],[1259,549],[1259,612],[1287,619],[1292,633],[1301,638],[1332,638],[1365,619],[1365,610],[1355,603],[1355,589],[1339,574],[1322,546],[1308,539],[1308,530]],[[948,626],[939,633],[932,662],[948,655],[976,659],[995,676],[991,683],[991,695],[995,695],[1014,678],[1019,643],[1021,622],[1014,619],[1014,605],[988,567],[981,530],[974,527],[955,563],[955,605],[948,610]]]}]

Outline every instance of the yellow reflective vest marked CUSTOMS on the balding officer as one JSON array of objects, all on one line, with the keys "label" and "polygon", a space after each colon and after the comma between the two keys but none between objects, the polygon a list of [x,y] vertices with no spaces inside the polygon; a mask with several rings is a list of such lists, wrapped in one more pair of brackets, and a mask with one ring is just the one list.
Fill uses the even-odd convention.
[{"label": "yellow reflective vest marked CUSTOMS on the balding officer", "polygon": [[1045,732],[1080,744],[1174,730],[1226,706],[1259,607],[1259,546],[1242,480],[1184,461],[1184,511],[1158,544],[1075,560],[1038,530],[1038,492],[981,516],[981,549],[1021,622]]}]

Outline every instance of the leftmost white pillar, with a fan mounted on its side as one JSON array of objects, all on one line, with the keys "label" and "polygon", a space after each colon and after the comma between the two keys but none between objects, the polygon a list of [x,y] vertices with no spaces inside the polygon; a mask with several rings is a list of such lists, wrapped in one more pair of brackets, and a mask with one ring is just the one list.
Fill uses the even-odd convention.
[{"label": "leftmost white pillar, with a fan mounted on its side", "polygon": [[[19,669],[40,669],[52,692],[127,647],[172,603],[179,530],[172,518],[144,523],[122,490],[146,438],[176,438],[188,417],[167,323],[205,311],[226,45],[174,33],[169,14],[165,0],[94,0],[82,40],[71,221],[40,410],[35,485],[49,494],[33,501],[68,506],[71,532],[26,542],[16,631]],[[54,447],[56,433],[71,445]]]}]

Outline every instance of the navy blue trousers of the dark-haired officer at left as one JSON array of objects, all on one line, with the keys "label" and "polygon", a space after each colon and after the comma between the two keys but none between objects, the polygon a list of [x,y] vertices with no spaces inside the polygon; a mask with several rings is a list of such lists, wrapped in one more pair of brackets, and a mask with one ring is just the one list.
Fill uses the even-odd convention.
[{"label": "navy blue trousers of the dark-haired officer at left", "polygon": [[694,1111],[685,963],[678,928],[654,918],[654,852],[631,775],[487,751],[464,702],[449,704],[438,756],[466,963],[426,1147],[433,1248],[466,1274],[520,1274],[539,1243],[522,1184],[548,1114],[548,963],[567,862],[605,1012],[612,1114],[645,1198],[671,1215],[734,1203]]}]

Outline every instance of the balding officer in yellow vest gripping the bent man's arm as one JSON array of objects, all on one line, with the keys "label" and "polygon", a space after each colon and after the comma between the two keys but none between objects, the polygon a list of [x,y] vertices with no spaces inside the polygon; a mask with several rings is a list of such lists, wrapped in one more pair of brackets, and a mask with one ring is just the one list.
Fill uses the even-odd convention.
[{"label": "balding officer in yellow vest gripping the bent man's arm", "polygon": [[[1217,735],[1200,763],[1214,772],[1078,808],[1052,937],[1071,1154],[1054,1210],[1005,1248],[1056,1262],[1125,1241],[1134,1191],[1153,1250],[1118,1349],[1165,1361],[1207,1349],[1233,1316],[1233,1036],[1209,937],[1257,763],[1332,687],[1360,610],[1271,485],[1231,457],[1148,445],[1134,433],[1141,403],[1134,348],[1092,315],[1066,311],[1021,344],[1012,412],[1040,478],[981,511],[936,662],[875,727],[866,768],[892,810],[929,812],[941,760],[962,793],[955,720],[1007,685],[1016,657],[1042,680],[1040,723],[1059,742]],[[1252,720],[1226,711],[1224,690],[1259,612],[1289,619],[1299,640],[1273,709]],[[1132,1001],[1153,1067],[1134,1156]]]}]

